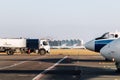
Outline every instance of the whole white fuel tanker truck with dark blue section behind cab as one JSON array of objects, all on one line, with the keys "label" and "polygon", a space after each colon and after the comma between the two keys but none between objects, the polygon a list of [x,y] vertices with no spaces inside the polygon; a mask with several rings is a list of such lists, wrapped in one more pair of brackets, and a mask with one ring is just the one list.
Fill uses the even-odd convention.
[{"label": "whole white fuel tanker truck with dark blue section behind cab", "polygon": [[0,52],[6,52],[8,55],[15,52],[28,54],[35,52],[44,55],[50,53],[50,45],[45,39],[1,38]]}]

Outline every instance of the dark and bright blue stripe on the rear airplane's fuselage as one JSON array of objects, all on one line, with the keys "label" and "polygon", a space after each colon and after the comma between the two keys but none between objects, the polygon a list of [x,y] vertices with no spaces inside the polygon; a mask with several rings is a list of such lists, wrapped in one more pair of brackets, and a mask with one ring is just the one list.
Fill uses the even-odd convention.
[{"label": "dark and bright blue stripe on the rear airplane's fuselage", "polygon": [[100,52],[100,49],[104,47],[106,44],[110,43],[114,39],[102,39],[102,40],[96,40],[95,41],[95,51]]}]

